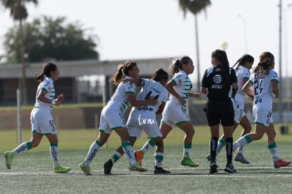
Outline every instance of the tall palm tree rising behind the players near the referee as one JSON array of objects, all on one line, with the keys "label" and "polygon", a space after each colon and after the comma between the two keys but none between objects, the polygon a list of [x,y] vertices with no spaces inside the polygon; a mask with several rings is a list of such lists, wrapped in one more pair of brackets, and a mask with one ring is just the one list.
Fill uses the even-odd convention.
[{"label": "tall palm tree rising behind the players near the referee", "polygon": [[183,11],[185,18],[187,11],[190,11],[195,16],[195,42],[197,50],[197,90],[200,89],[200,51],[199,51],[199,35],[197,31],[197,13],[206,11],[207,6],[211,5],[209,0],[179,0],[179,6]]}]

